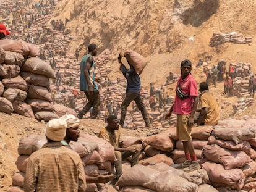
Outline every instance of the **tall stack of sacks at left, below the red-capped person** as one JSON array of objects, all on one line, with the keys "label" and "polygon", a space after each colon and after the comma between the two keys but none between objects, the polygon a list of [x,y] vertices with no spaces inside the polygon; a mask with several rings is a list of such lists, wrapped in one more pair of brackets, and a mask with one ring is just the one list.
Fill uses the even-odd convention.
[{"label": "tall stack of sacks at left, below the red-capped person", "polygon": [[46,122],[63,113],[75,114],[71,109],[55,109],[49,94],[49,78],[55,75],[37,55],[35,44],[0,40],[0,111]]}]

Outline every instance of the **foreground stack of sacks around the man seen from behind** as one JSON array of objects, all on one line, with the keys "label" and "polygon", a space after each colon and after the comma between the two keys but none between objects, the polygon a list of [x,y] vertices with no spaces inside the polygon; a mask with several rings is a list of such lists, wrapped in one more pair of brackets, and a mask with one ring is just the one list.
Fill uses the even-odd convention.
[{"label": "foreground stack of sacks around the man seen from behind", "polygon": [[[88,139],[87,139],[88,138]],[[47,143],[45,135],[30,135],[20,140],[19,157],[15,162],[19,172],[12,177],[12,186],[23,191],[28,157]],[[110,175],[111,163],[116,160],[114,148],[105,140],[96,136],[82,134],[77,142],[70,141],[71,148],[79,154],[85,168],[85,174],[95,177]],[[86,192],[98,190],[96,183],[87,184]]]}]

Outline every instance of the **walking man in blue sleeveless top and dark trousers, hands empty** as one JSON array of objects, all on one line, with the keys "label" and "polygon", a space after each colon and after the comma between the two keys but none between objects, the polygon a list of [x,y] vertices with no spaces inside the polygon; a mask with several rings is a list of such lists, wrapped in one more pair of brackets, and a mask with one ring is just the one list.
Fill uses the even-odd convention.
[{"label": "walking man in blue sleeveless top and dark trousers, hands empty", "polygon": [[80,63],[80,91],[85,91],[87,104],[79,112],[77,117],[81,119],[92,107],[92,119],[96,119],[100,107],[100,93],[95,83],[95,64],[93,57],[97,55],[96,44],[88,46],[88,54],[83,56]]}]

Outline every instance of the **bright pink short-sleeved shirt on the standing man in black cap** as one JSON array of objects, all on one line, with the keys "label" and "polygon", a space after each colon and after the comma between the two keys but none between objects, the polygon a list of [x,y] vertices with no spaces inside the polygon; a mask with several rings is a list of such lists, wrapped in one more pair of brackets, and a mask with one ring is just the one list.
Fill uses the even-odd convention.
[{"label": "bright pink short-sleeved shirt on the standing man in black cap", "polygon": [[[183,80],[181,77],[179,77],[175,91],[177,90],[179,83],[181,83],[181,90],[184,93],[189,94],[190,96],[198,96],[197,81],[195,81],[191,74],[187,75],[187,77]],[[173,112],[179,115],[190,115],[192,112],[193,103],[194,99],[192,97],[181,100],[176,94],[174,99]]]}]

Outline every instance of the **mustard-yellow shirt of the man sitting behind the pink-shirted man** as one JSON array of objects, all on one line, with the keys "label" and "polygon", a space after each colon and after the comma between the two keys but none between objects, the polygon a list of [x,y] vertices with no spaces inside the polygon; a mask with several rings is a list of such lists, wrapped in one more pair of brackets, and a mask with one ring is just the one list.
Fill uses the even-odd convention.
[{"label": "mustard-yellow shirt of the man sitting behind the pink-shirted man", "polygon": [[207,117],[205,117],[205,125],[216,125],[220,119],[219,107],[216,99],[208,90],[200,94],[202,108],[208,108]]}]

